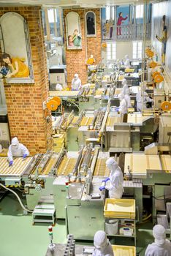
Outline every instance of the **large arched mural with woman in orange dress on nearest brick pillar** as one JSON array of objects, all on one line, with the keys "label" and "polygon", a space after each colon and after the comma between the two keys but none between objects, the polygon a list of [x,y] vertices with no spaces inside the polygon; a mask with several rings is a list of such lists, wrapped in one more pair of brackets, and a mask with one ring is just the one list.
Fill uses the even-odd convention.
[{"label": "large arched mural with woman in orange dress on nearest brick pillar", "polygon": [[34,83],[26,20],[16,12],[0,18],[1,78],[7,83]]}]

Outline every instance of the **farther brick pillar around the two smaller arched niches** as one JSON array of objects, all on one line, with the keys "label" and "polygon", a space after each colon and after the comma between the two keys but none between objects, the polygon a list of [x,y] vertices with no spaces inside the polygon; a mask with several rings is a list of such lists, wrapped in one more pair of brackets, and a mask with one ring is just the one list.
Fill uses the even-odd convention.
[{"label": "farther brick pillar around the two smaller arched niches", "polygon": [[[66,70],[67,83],[70,87],[74,74],[77,73],[82,81],[82,84],[87,83],[87,68],[86,58],[94,55],[96,64],[101,60],[101,21],[100,9],[92,10],[96,14],[96,37],[86,37],[86,12],[91,10],[64,10],[64,21],[67,13],[77,12],[80,15],[80,27],[82,34],[82,50],[66,49]],[[65,24],[65,46],[66,46],[66,23]]]}]

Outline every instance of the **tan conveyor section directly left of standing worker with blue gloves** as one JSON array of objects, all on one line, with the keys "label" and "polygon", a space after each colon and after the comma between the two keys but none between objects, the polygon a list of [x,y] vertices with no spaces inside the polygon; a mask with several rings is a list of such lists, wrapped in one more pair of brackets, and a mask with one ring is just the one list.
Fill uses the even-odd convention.
[{"label": "tan conveyor section directly left of standing worker with blue gloves", "polygon": [[106,160],[105,158],[99,158],[96,161],[96,167],[94,170],[94,176],[104,176],[108,177],[110,174],[109,169],[106,167]]}]

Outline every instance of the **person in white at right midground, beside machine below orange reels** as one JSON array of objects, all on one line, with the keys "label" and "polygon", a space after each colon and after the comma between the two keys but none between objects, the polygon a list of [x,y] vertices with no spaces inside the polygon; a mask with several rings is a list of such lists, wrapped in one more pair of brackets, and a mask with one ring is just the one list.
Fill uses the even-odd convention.
[{"label": "person in white at right midground, beside machine below orange reels", "polygon": [[[144,89],[146,89],[146,86]],[[136,101],[137,101],[137,111],[141,112],[142,108],[143,109],[147,108],[146,106],[147,102],[153,102],[153,99],[151,99],[148,96],[146,91],[142,92],[142,88],[141,88],[141,90],[137,92]]]}]

